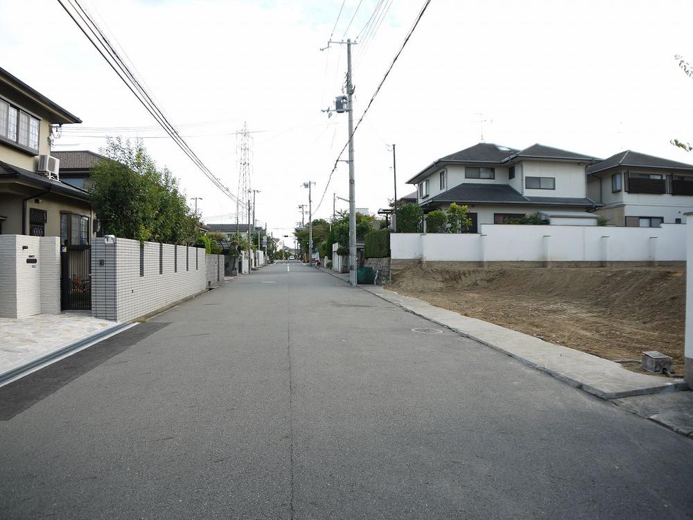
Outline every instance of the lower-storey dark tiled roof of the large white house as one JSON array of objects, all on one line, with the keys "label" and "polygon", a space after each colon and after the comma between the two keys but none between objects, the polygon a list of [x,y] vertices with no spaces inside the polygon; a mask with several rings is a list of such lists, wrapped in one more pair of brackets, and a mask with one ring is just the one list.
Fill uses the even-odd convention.
[{"label": "lower-storey dark tiled roof of the large white house", "polygon": [[432,202],[464,202],[464,203],[500,203],[500,204],[527,204],[546,206],[584,206],[593,207],[595,202],[588,198],[565,197],[527,197],[516,191],[508,184],[481,184],[463,182],[440,195],[423,202],[424,205]]}]

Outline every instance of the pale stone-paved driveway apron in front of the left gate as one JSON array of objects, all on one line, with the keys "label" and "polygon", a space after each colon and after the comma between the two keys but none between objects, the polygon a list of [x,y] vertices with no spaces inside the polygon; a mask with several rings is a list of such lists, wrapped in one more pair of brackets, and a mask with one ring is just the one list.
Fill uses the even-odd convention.
[{"label": "pale stone-paved driveway apron in front of the left gate", "polygon": [[80,312],[0,318],[0,386],[125,326]]}]

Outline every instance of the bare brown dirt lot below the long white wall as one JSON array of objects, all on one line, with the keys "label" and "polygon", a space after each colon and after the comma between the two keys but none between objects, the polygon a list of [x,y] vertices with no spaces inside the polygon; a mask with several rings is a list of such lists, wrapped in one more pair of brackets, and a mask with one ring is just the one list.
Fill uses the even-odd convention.
[{"label": "bare brown dirt lot below the long white wall", "polygon": [[683,268],[407,266],[388,288],[606,359],[658,350],[683,370]]}]

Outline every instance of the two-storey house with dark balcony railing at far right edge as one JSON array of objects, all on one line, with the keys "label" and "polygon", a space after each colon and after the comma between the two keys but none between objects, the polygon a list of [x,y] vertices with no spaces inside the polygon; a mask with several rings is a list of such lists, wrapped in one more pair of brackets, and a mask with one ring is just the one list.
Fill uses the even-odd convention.
[{"label": "two-storey house with dark balcony railing at far right edge", "polygon": [[693,211],[693,165],[626,150],[588,166],[597,213],[619,226],[683,223]]}]

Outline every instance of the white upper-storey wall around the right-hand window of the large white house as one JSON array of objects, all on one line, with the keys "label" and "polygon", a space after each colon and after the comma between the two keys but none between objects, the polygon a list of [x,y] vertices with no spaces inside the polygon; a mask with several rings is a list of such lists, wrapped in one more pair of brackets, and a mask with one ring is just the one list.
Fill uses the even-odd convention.
[{"label": "white upper-storey wall around the right-hand window of the large white house", "polygon": [[[522,161],[523,192],[529,197],[573,197],[587,196],[585,164],[560,161]],[[517,177],[517,174],[516,174]],[[527,189],[527,177],[554,177],[556,189]]]}]

